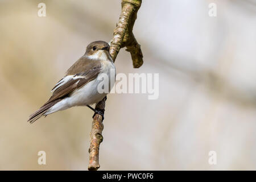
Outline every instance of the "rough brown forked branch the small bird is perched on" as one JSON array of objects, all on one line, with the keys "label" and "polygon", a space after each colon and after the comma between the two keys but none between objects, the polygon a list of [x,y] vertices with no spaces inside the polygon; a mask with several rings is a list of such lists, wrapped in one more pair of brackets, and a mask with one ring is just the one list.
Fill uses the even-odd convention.
[{"label": "rough brown forked branch the small bird is perched on", "polygon": [[[121,48],[126,47],[126,51],[130,52],[133,60],[133,67],[139,68],[143,64],[143,55],[141,45],[133,35],[134,22],[137,19],[137,12],[141,7],[142,0],[122,0],[122,13],[119,16],[119,22],[114,29],[114,37],[110,44],[109,53],[113,61],[118,55]],[[95,109],[105,110],[105,99],[98,102]],[[89,148],[89,171],[96,171],[100,168],[98,162],[100,143],[103,140],[102,130],[104,125],[100,114],[96,114],[93,118],[92,131],[90,133],[90,148]]]}]

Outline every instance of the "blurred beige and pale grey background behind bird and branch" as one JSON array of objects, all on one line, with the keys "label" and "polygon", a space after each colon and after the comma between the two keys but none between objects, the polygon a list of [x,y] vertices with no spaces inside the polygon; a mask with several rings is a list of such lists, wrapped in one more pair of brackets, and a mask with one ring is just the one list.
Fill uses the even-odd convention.
[{"label": "blurred beige and pale grey background behind bird and branch", "polygon": [[[27,119],[90,42],[112,39],[120,13],[121,1],[0,1],[0,169],[88,168],[90,109]],[[253,0],[143,1],[134,35],[144,64],[134,69],[121,49],[115,65],[159,73],[159,98],[109,94],[100,170],[255,170],[255,33]]]}]

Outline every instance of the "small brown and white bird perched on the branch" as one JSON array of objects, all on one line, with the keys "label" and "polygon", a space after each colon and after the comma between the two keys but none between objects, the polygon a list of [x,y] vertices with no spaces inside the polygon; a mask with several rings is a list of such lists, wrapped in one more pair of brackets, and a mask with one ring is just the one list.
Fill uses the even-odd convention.
[{"label": "small brown and white bird perched on the branch", "polygon": [[73,106],[88,106],[96,113],[104,112],[93,109],[90,105],[97,104],[107,93],[98,92],[100,79],[105,74],[108,79],[109,90],[113,87],[110,81],[115,81],[115,65],[109,53],[109,44],[98,40],[90,43],[86,51],[65,73],[65,76],[52,88],[52,96],[40,109],[31,114],[28,122],[34,123],[37,119],[48,114],[65,110]]}]

